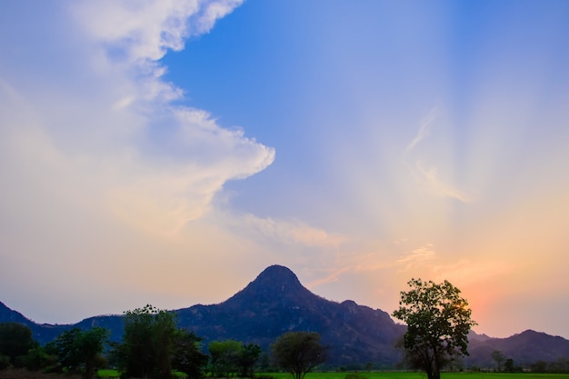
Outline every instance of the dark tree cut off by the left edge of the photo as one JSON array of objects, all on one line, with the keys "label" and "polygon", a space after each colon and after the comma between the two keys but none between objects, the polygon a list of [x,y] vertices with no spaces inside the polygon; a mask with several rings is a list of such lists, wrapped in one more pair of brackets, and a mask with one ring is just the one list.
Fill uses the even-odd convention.
[{"label": "dark tree cut off by the left edge of the photo", "polygon": [[0,324],[0,355],[5,355],[9,364],[15,364],[15,358],[23,356],[37,345],[32,338],[32,329],[25,324]]}]

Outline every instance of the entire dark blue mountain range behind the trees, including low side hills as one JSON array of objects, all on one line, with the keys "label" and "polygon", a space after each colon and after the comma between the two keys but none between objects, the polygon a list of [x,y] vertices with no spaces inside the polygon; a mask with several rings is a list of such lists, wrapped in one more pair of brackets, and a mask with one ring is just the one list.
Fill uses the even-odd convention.
[{"label": "entire dark blue mountain range behind the trees, including low side hills", "polygon": [[[269,266],[238,292],[220,304],[197,304],[175,310],[178,325],[209,341],[234,339],[259,344],[268,351],[280,334],[288,331],[313,331],[330,346],[330,366],[355,366],[372,363],[376,368],[394,367],[401,352],[394,348],[405,326],[379,309],[347,300],[336,303],[311,293],[288,268]],[[35,324],[5,304],[0,303],[0,322],[13,321],[29,325],[41,344],[72,327],[88,329],[106,327],[111,338],[119,341],[124,328],[120,315],[89,317],[78,324]],[[500,350],[515,364],[528,365],[538,360],[553,362],[559,357],[569,359],[569,341],[562,337],[525,331],[508,338],[492,338],[471,333],[470,356],[466,367],[494,367],[491,354]]]}]

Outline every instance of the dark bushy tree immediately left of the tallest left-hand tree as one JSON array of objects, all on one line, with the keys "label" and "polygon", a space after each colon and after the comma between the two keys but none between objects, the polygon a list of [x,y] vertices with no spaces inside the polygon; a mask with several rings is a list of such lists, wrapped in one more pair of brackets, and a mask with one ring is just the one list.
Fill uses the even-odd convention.
[{"label": "dark bushy tree immediately left of the tallest left-hand tree", "polygon": [[83,372],[86,378],[104,363],[103,350],[108,340],[108,330],[95,326],[82,331],[75,327],[59,334],[50,348],[55,351],[59,364],[71,372]]}]

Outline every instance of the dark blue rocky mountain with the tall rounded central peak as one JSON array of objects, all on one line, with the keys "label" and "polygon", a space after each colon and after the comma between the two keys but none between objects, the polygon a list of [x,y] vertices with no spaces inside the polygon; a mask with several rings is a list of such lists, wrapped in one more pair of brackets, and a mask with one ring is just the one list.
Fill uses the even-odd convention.
[{"label": "dark blue rocky mountain with the tall rounded central peak", "polygon": [[393,346],[404,326],[394,324],[384,311],[312,294],[284,266],[266,268],[224,303],[195,305],[176,313],[181,325],[207,341],[235,339],[267,350],[280,334],[311,331],[330,346],[330,363],[393,366],[400,360]]}]

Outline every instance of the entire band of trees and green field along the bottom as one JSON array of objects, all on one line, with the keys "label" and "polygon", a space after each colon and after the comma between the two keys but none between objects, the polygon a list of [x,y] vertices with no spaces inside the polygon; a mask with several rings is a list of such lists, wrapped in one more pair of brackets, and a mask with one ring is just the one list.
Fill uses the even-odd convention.
[{"label": "entire band of trees and green field along the bottom", "polygon": [[[494,378],[496,374],[500,375],[499,379],[513,379],[514,374],[516,378],[520,377],[518,373],[523,373],[524,379],[569,379],[569,357],[556,358],[552,362],[540,360],[544,357],[549,360],[549,356],[554,356],[552,354],[538,355],[532,364],[532,361],[528,362],[526,358],[514,354],[516,359],[521,359],[522,364],[519,364],[514,363],[512,357],[495,350],[487,351],[485,359],[478,354],[477,359],[471,361],[484,362],[482,369],[455,364],[460,362],[462,355],[468,354],[467,334],[475,324],[470,319],[471,311],[467,308],[467,302],[460,296],[460,291],[446,281],[434,284],[419,279],[410,281],[409,285],[410,291],[401,293],[399,309],[393,315],[408,325],[407,333],[401,339],[406,362],[412,368],[424,370],[429,379],[440,378],[444,368],[447,369],[444,379],[464,379],[465,376],[469,379],[498,379]],[[42,346],[32,338],[32,330],[28,326],[0,324],[0,379],[49,379],[38,372],[26,376],[28,372],[19,370],[20,367],[65,374],[67,379],[78,379],[74,374],[90,378],[95,373],[99,379],[198,379],[210,375],[285,379],[290,378],[291,374],[294,379],[425,377],[417,372],[374,372],[379,367],[390,367],[378,361],[355,361],[339,367],[321,365],[324,364],[327,348],[320,344],[320,335],[316,333],[282,334],[275,339],[271,350],[266,352],[256,344],[243,344],[235,340],[214,341],[207,346],[208,355],[201,345],[201,337],[177,327],[175,313],[146,305],[125,312],[124,322],[123,339],[120,343],[109,343],[110,350],[105,349],[109,331],[103,328],[65,329],[54,341]],[[505,346],[504,351],[512,351],[511,345],[501,346]],[[536,344],[532,348],[536,351],[540,349],[539,346]],[[95,371],[103,367],[105,370]],[[264,373],[255,374],[255,369]],[[276,372],[279,369],[283,372]],[[337,371],[318,373],[314,372],[315,369]],[[459,369],[468,371],[459,373]],[[51,379],[57,377],[54,375]]]}]

